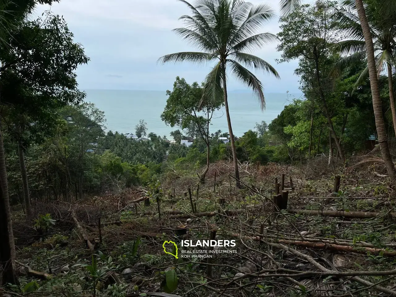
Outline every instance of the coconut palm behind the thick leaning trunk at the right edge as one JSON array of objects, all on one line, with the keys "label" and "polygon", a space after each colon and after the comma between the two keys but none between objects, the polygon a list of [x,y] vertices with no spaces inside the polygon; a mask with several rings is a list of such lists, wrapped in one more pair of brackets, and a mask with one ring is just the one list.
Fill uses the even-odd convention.
[{"label": "coconut palm behind the thick leaning trunk at the right edge", "polygon": [[[391,118],[396,135],[396,108],[394,101],[394,86],[392,79],[392,68],[396,65],[396,2],[393,0],[382,1],[382,5],[374,5],[371,2],[366,6],[367,21],[373,38],[374,54],[377,67],[377,74],[385,69],[388,74],[389,100],[391,109]],[[343,68],[349,63],[361,61],[366,57],[366,42],[359,17],[354,13],[355,6],[348,4],[337,14],[342,27],[346,33],[352,37],[350,40],[344,40],[338,43],[341,55],[346,55],[337,64],[336,68]],[[389,13],[393,11],[394,13]],[[355,88],[366,80],[369,75],[368,66],[364,69],[356,82]]]}]

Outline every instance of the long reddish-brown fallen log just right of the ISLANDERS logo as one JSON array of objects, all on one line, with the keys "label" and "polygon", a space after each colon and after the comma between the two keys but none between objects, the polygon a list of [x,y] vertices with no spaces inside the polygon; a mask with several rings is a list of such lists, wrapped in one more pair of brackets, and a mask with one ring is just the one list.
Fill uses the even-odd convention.
[{"label": "long reddish-brown fallen log just right of the ISLANDERS logo", "polygon": [[[258,242],[265,242],[261,238],[261,236],[240,236],[239,234],[232,234],[233,237],[241,238],[243,240],[254,240]],[[287,244],[287,245],[294,245],[294,246],[301,246],[301,247],[308,247],[313,249],[327,249],[330,251],[343,251],[348,253],[358,253],[358,254],[367,254],[371,253],[374,255],[382,254],[388,257],[396,257],[396,251],[388,251],[386,249],[376,249],[372,247],[353,247],[353,246],[340,246],[337,244],[326,244],[322,242],[307,242],[307,241],[297,241],[297,240],[273,240],[274,243],[280,244]]]}]

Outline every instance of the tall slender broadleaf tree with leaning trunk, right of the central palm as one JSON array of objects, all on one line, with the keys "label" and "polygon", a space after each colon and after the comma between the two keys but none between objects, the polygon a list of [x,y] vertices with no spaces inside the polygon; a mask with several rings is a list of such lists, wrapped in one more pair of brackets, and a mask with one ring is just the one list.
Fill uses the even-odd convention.
[{"label": "tall slender broadleaf tree with leaning trunk, right of the central palm", "polygon": [[281,44],[278,50],[282,51],[281,61],[300,58],[300,69],[303,68],[301,65],[309,65],[309,69],[314,69],[313,72],[309,71],[312,74],[312,80],[308,79],[312,82],[310,88],[316,91],[322,102],[331,135],[341,160],[345,162],[345,154],[331,119],[326,96],[326,88],[330,88],[331,82],[326,86],[324,79],[328,75],[326,63],[332,56],[330,48],[338,38],[337,24],[332,20],[335,8],[336,2],[317,1],[314,6],[309,4],[300,6],[293,13],[282,17],[280,26],[282,31],[279,33]]}]

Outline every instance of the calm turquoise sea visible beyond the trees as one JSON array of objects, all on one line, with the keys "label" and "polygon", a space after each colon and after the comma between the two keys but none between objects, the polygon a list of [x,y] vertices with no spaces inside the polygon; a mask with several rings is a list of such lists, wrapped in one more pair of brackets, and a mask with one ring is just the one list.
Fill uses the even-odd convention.
[{"label": "calm turquoise sea visible beyond the trees", "polygon": [[[120,133],[135,132],[139,119],[147,122],[148,132],[157,135],[168,135],[177,128],[166,126],[161,120],[161,113],[166,105],[165,91],[133,91],[133,90],[86,90],[86,101],[105,112],[107,130]],[[299,97],[300,94],[294,94]],[[267,108],[261,111],[259,103],[251,93],[228,93],[228,105],[234,135],[242,136],[249,129],[254,129],[256,122],[265,121],[269,124],[290,103],[293,95],[287,93],[265,94]],[[225,109],[215,113],[211,131],[228,132]]]}]

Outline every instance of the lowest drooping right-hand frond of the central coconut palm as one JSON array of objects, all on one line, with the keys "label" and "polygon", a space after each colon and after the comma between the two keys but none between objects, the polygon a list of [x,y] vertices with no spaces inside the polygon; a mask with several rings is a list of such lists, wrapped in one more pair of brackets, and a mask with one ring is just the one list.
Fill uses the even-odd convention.
[{"label": "lowest drooping right-hand frond of the central coconut palm", "polygon": [[260,80],[245,67],[240,65],[234,60],[227,60],[231,65],[232,75],[235,76],[240,82],[247,84],[252,90],[255,97],[257,97],[261,110],[265,109],[265,97],[263,93],[263,84]]}]

